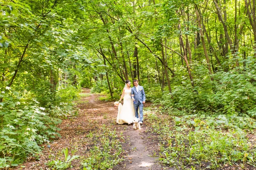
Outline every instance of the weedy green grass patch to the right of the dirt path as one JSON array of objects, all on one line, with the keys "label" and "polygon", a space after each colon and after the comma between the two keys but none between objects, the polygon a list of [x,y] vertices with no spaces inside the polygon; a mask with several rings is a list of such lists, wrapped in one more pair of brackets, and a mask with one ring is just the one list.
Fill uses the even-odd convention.
[{"label": "weedy green grass patch to the right of the dirt path", "polygon": [[256,167],[256,149],[248,139],[256,127],[254,119],[196,114],[148,114],[147,118],[150,130],[159,134],[163,164],[189,170]]}]

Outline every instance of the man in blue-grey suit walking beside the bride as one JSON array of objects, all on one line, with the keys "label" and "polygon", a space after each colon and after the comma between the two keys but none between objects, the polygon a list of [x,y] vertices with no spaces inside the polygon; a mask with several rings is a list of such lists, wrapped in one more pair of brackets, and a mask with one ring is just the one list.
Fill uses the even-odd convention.
[{"label": "man in blue-grey suit walking beside the bride", "polygon": [[139,81],[134,79],[134,87],[131,88],[131,99],[135,101],[135,116],[139,118],[138,108],[140,108],[140,124],[143,122],[143,104],[146,101],[145,91],[143,86],[139,85]]}]

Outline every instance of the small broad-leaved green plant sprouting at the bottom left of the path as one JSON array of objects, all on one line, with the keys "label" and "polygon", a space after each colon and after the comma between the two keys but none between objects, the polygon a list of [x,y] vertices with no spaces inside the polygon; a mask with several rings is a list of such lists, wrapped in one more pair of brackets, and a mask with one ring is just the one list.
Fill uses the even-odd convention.
[{"label": "small broad-leaved green plant sprouting at the bottom left of the path", "polygon": [[73,161],[74,159],[78,159],[79,156],[78,155],[73,155],[72,157],[70,157],[70,155],[68,155],[68,149],[66,147],[66,149],[63,149],[63,153],[65,156],[65,160],[61,161],[61,160],[53,160],[53,161],[49,161],[47,163],[47,165],[52,168],[52,170],[66,170],[68,167],[72,167],[71,165],[71,161]]}]

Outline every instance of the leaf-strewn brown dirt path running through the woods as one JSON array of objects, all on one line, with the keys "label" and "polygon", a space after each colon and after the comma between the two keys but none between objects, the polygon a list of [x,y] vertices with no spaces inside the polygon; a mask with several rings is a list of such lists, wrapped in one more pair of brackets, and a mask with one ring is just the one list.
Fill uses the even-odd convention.
[{"label": "leaf-strewn brown dirt path running through the woods", "polygon": [[[23,165],[14,168],[15,170],[47,170],[47,162],[52,157],[61,156],[62,149],[67,147],[69,152],[76,155],[85,156],[90,150],[90,141],[87,135],[97,132],[103,124],[113,127],[119,133],[124,134],[125,142],[122,144],[126,152],[125,160],[118,164],[113,170],[161,170],[156,157],[158,142],[152,133],[147,132],[147,117],[141,130],[133,130],[132,125],[117,125],[117,108],[113,107],[113,102],[104,102],[98,99],[99,95],[90,94],[90,89],[83,89],[81,99],[77,101],[79,115],[70,119],[64,119],[59,127],[61,138],[49,144],[44,144],[42,154],[35,160],[31,157]],[[149,104],[145,104],[145,108]],[[63,154],[62,154],[63,155]],[[51,159],[52,159],[51,158]],[[72,170],[81,168],[79,160],[73,162]]]}]

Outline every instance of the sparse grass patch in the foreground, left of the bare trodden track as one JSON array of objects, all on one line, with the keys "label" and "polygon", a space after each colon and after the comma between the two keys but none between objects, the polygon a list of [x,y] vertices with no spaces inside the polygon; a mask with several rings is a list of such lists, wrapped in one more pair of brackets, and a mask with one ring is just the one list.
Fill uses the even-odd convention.
[{"label": "sparse grass patch in the foreground, left of the bare trodden track", "polygon": [[[107,170],[112,169],[116,164],[123,161],[122,133],[117,133],[116,130],[102,125],[99,130],[88,133],[86,138],[91,147],[88,152],[84,151],[84,153],[87,153],[85,156],[74,155],[79,150],[77,146],[71,150],[71,155],[69,156],[66,148],[56,155],[49,156],[48,167],[64,170],[72,167],[72,161],[79,158],[82,170]],[[65,153],[65,159],[63,159],[63,153]]]}]

